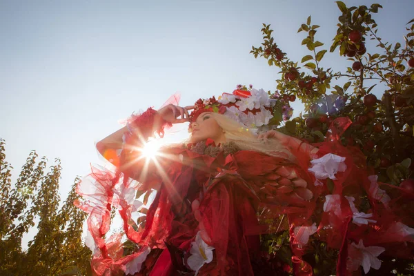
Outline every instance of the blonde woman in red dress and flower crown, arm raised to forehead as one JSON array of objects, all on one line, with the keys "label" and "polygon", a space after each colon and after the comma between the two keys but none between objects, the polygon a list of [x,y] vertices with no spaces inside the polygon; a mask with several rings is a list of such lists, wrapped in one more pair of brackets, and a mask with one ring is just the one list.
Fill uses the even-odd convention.
[{"label": "blonde woman in red dress and flower crown, arm raised to forehead", "polygon": [[[382,246],[411,240],[400,230],[413,229],[394,215],[384,201],[386,193],[355,163],[360,154],[337,142],[348,119],[337,119],[319,148],[275,130],[255,135],[250,127],[266,127],[273,105],[263,90],[236,90],[219,101],[213,97],[186,108],[149,108],[99,141],[99,152],[117,172],[94,169],[93,186],[82,181],[78,187],[87,200],[77,202],[90,213],[95,273],[312,275],[305,261],[313,250],[310,239],[337,250],[338,275],[359,266],[367,273],[380,268],[377,255],[385,247],[372,246],[376,251],[367,264],[360,257],[365,252],[361,242],[368,248],[380,238]],[[185,121],[190,122],[187,143],[163,148],[154,159],[142,156],[154,132],[162,136],[165,126]],[[119,156],[113,154],[117,150]],[[136,190],[137,196],[157,190],[150,208],[141,211],[145,219],[137,223],[131,218]],[[366,213],[357,210],[355,201],[363,193],[375,206]],[[112,206],[119,209],[126,237],[135,246],[129,255],[121,234],[103,237]],[[373,228],[378,221],[381,227]],[[284,262],[270,262],[263,238],[286,230],[292,255],[287,268]],[[390,238],[390,233],[397,234]]]}]

